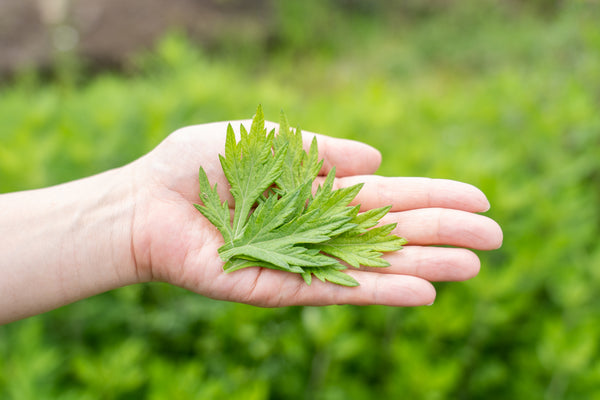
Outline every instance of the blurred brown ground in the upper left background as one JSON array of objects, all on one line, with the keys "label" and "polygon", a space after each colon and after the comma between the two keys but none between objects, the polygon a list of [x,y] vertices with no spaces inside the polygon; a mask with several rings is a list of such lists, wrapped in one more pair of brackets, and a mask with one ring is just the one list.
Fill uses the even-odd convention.
[{"label": "blurred brown ground in the upper left background", "polygon": [[2,0],[0,75],[48,67],[74,51],[98,66],[123,65],[165,32],[183,30],[210,45],[231,29],[259,32],[265,0]]}]

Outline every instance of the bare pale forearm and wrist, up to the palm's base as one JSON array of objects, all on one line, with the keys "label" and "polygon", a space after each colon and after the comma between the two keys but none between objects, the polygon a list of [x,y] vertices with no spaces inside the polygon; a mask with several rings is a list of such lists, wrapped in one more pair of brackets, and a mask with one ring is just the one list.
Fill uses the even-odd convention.
[{"label": "bare pale forearm and wrist, up to the palm's base", "polygon": [[0,324],[137,281],[125,169],[0,195]]}]

